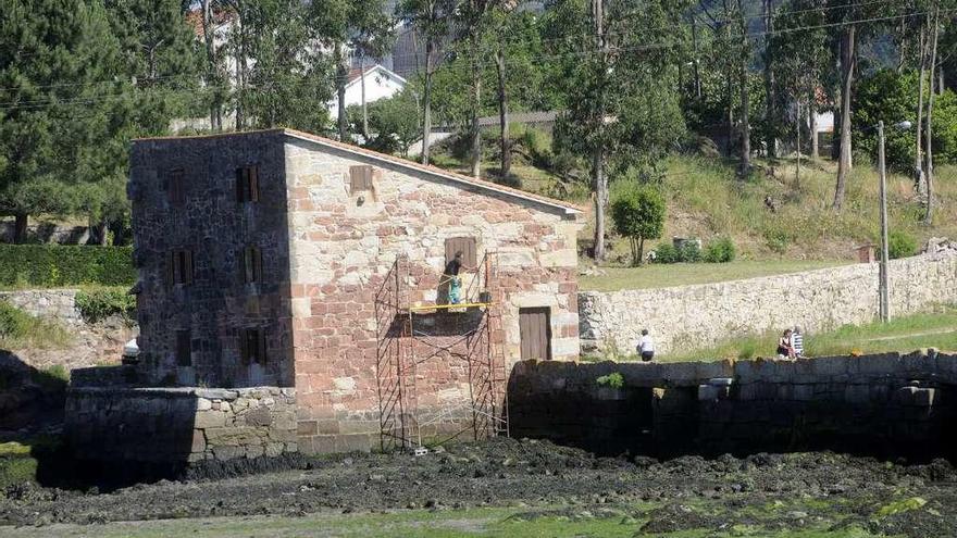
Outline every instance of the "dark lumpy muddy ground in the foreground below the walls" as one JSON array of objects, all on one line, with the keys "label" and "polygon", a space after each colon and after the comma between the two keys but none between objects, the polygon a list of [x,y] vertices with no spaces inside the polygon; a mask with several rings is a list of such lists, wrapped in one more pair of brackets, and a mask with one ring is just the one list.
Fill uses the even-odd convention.
[{"label": "dark lumpy muddy ground in the foreground below the walls", "polygon": [[[360,524],[397,525],[396,533],[386,536],[402,536],[402,529],[406,536],[415,535],[409,533],[408,522],[427,526],[439,516],[469,528],[487,527],[484,536],[517,536],[519,527],[505,523],[517,520],[532,525],[521,527],[522,533],[561,527],[561,522],[594,520],[589,525],[601,526],[613,520],[616,525],[629,522],[626,536],[695,529],[707,531],[700,536],[714,536],[735,525],[766,530],[755,536],[773,536],[784,528],[865,533],[856,536],[957,536],[957,471],[945,461],[906,465],[832,453],[629,461],[596,459],[543,441],[497,439],[418,459],[353,454],[315,460],[308,467],[215,481],[138,485],[112,493],[11,487],[0,492],[0,536],[175,536],[183,534],[174,533],[175,526],[144,524],[136,527],[141,533],[124,535],[105,530],[128,529],[127,524],[100,524],[187,520],[201,529],[209,525],[198,520],[210,517],[226,527],[195,536],[237,536],[229,525],[248,517],[266,517],[265,527],[237,530],[241,536],[324,536],[276,529],[325,516],[335,517],[328,523],[341,530],[335,536],[363,536],[355,530]],[[482,523],[485,520],[494,524]],[[79,526],[50,526],[54,524]],[[85,526],[89,524],[97,525]],[[36,525],[41,527],[22,527]],[[608,535],[588,528],[580,530]]]}]

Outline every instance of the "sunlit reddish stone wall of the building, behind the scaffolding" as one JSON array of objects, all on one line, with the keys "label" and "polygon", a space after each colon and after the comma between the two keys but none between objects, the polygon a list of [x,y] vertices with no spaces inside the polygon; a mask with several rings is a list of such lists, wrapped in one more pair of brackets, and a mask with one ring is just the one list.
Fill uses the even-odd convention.
[{"label": "sunlit reddish stone wall of the building, behind the scaffolding", "polygon": [[[350,192],[349,167],[357,164],[373,166],[372,191]],[[287,142],[286,170],[303,451],[378,446],[374,298],[401,254],[409,260],[402,301],[434,303],[447,238],[474,237],[478,262],[496,252],[495,338],[509,367],[520,356],[518,316],[526,306],[549,309],[552,358],[577,358],[573,214],[309,139]],[[419,366],[418,409],[438,425],[433,433],[470,414],[461,405],[468,376],[455,350]]]}]

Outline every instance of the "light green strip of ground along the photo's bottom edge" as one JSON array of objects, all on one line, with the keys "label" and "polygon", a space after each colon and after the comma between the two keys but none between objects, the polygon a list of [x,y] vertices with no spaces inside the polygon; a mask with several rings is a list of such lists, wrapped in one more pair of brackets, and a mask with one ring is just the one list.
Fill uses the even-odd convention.
[{"label": "light green strip of ground along the photo's bottom edge", "polygon": [[[203,520],[164,520],[151,522],[122,522],[104,525],[51,525],[38,528],[4,530],[0,537],[21,538],[162,538],[190,536],[196,538],[234,537],[299,538],[299,537],[607,537],[632,538],[656,536],[662,538],[705,538],[754,536],[765,538],[868,538],[871,535],[858,526],[843,530],[820,529],[767,530],[760,525],[730,526],[728,531],[691,529],[646,535],[638,529],[645,523],[625,511],[592,510],[579,516],[570,510],[548,513],[523,512],[519,509],[471,509],[399,511],[384,514],[310,514],[302,517],[217,517]],[[593,513],[594,512],[594,513]],[[634,514],[641,515],[641,514]],[[780,528],[780,525],[778,526]]]}]

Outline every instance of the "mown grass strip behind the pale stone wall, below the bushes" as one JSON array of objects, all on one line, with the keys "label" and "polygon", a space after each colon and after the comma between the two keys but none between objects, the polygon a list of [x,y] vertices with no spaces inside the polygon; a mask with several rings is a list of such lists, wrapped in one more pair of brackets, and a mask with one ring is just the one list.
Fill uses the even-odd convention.
[{"label": "mown grass strip behind the pale stone wall, below the bushes", "polygon": [[[585,263],[585,262],[582,262]],[[642,267],[602,267],[604,276],[582,276],[583,290],[617,291],[620,289],[664,288],[688,284],[739,280],[757,276],[799,273],[835,265],[846,261],[771,260],[737,261],[731,263],[675,263],[644,265]]]}]

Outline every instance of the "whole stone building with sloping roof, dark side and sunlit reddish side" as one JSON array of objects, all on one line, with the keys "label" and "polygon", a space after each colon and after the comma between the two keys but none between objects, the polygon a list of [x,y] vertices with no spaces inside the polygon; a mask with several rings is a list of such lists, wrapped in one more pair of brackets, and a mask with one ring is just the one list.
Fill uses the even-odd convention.
[{"label": "whole stone building with sloping roof, dark side and sunlit reddish side", "polygon": [[[506,374],[579,354],[581,210],[566,202],[289,129],[136,140],[128,197],[139,377],[295,387],[303,451],[378,446],[402,336],[445,340],[428,356],[434,343],[401,347],[433,433],[469,398],[474,368],[457,358],[477,349],[478,317],[475,352]],[[475,267],[463,302],[481,304],[432,309],[455,251]]]}]

